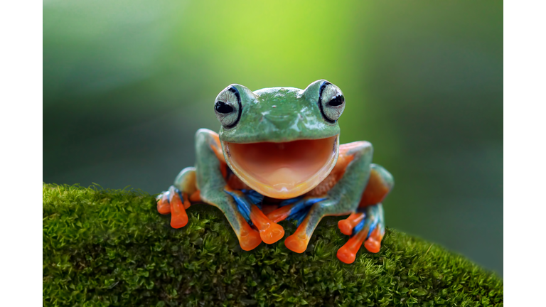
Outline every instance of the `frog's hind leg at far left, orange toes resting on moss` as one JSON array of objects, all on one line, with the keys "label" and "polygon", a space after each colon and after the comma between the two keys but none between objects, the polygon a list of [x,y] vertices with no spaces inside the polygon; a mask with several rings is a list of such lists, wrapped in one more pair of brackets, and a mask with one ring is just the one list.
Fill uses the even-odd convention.
[{"label": "frog's hind leg at far left, orange toes resting on moss", "polygon": [[157,197],[157,211],[161,214],[171,213],[171,227],[181,228],[188,224],[186,209],[191,205],[191,199],[198,201],[196,187],[196,168],[184,168],[167,191]]}]

